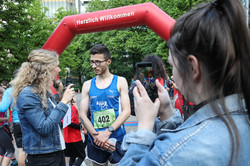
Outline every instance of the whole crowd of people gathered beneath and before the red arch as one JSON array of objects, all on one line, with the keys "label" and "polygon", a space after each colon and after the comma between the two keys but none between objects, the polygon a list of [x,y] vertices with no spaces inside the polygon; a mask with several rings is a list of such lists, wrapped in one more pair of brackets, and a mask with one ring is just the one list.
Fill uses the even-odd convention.
[{"label": "whole crowd of people gathered beneath and before the red arch", "polygon": [[[59,55],[32,50],[11,86],[0,87],[0,165],[15,158],[11,124],[18,165],[80,166],[86,156],[94,166],[250,165],[250,36],[244,18],[238,0],[198,5],[171,30],[173,77],[168,79],[159,56],[149,55],[143,62],[152,64],[154,75],[145,82],[135,76],[130,88],[110,72],[108,47],[94,45],[90,65],[96,76],[84,82],[80,108],[74,84],[56,79]],[[144,85],[151,83],[154,99]],[[126,134],[130,115],[138,126]]]}]

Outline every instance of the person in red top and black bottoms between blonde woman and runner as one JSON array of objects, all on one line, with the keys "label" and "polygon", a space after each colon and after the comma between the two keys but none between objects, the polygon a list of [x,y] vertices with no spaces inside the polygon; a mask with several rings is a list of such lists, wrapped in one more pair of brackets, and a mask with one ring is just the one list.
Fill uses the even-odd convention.
[{"label": "person in red top and black bottoms between blonde woman and runner", "polygon": [[86,144],[83,143],[81,137],[82,129],[83,126],[79,123],[76,98],[74,97],[71,103],[71,124],[63,129],[66,144],[65,156],[70,157],[70,166],[80,166],[86,157]]}]

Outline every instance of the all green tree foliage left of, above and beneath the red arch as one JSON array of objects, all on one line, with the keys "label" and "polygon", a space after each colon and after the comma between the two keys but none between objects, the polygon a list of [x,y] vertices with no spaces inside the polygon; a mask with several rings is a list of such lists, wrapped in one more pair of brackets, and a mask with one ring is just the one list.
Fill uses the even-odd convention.
[{"label": "all green tree foliage left of, above and beneath the red arch", "polygon": [[[177,19],[196,3],[203,0],[93,0],[87,12],[153,2],[172,18]],[[41,48],[60,21],[75,11],[60,8],[54,18],[46,18],[40,0],[0,1],[0,79],[10,79],[12,72],[27,59],[28,53]],[[131,27],[106,32],[77,35],[60,56],[60,77],[65,77],[65,68],[71,69],[77,86],[94,76],[89,65],[89,50],[97,43],[108,46],[112,55],[110,70],[130,82],[135,72],[135,63],[149,54],[160,56],[167,64],[166,42],[147,26]]]}]

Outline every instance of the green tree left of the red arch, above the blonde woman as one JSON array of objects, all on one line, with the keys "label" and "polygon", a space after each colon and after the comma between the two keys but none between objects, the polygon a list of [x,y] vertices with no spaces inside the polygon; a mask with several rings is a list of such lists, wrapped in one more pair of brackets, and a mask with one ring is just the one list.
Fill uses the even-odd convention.
[{"label": "green tree left of the red arch, above the blonde woman", "polygon": [[10,80],[28,53],[42,47],[55,28],[52,22],[40,0],[0,1],[0,80]]}]

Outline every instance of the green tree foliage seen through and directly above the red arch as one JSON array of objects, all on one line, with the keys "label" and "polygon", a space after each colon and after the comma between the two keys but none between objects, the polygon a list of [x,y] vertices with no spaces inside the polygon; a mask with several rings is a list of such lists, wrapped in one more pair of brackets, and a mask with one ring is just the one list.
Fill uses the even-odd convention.
[{"label": "green tree foliage seen through and directly above the red arch", "polygon": [[[89,3],[88,12],[117,8],[127,5],[135,5],[145,2],[153,2],[174,19],[184,14],[190,7],[196,4],[197,0],[94,0]],[[128,82],[135,73],[135,63],[141,61],[149,54],[156,54],[167,62],[168,48],[166,41],[152,32],[146,26],[131,27],[126,29],[112,30],[83,34],[76,42],[79,42],[79,53],[83,60],[82,75],[84,79],[94,76],[89,65],[89,49],[97,43],[105,44],[111,52],[111,72],[124,76]],[[166,68],[171,74],[171,67]]]}]

